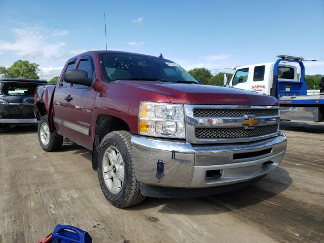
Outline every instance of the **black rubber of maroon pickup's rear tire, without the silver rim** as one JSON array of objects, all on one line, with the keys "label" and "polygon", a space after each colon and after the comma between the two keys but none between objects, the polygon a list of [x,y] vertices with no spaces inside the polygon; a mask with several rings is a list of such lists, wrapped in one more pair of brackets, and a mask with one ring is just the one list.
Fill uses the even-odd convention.
[{"label": "black rubber of maroon pickup's rear tire, without the silver rim", "polygon": [[49,126],[49,121],[46,115],[42,116],[41,119],[39,119],[38,123],[38,141],[39,144],[41,144],[41,147],[48,152],[53,152],[61,149],[63,144],[63,136],[59,135],[56,130],[53,132],[49,132],[49,142],[48,144],[43,144],[41,139],[41,127],[43,124],[46,124]]}]

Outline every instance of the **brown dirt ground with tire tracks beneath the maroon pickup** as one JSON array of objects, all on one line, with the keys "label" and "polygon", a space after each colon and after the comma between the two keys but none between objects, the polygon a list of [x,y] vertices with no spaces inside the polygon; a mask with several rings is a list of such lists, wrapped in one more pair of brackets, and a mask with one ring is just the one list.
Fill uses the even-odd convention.
[{"label": "brown dirt ground with tire tracks beneath the maroon pickup", "polygon": [[36,128],[0,132],[0,243],[36,242],[57,224],[93,242],[324,242],[324,125],[283,123],[279,168],[246,189],[190,198],[146,198],[112,207],[90,151],[45,152]]}]

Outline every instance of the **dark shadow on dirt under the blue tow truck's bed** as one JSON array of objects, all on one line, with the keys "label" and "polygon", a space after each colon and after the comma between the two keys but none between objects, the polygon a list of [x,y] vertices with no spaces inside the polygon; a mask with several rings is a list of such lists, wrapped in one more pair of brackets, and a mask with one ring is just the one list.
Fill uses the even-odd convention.
[{"label": "dark shadow on dirt under the blue tow truck's bed", "polygon": [[297,123],[292,121],[280,121],[280,130],[306,133],[324,133],[324,123]]}]

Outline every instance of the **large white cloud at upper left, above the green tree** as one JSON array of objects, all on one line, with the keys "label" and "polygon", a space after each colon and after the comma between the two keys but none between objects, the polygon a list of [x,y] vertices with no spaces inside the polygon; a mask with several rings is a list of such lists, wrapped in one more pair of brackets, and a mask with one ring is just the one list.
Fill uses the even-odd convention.
[{"label": "large white cloud at upper left, above the green tree", "polygon": [[62,41],[55,40],[57,36],[68,33],[67,30],[51,30],[43,26],[31,26],[24,29],[12,29],[14,41],[0,40],[0,51],[12,51],[25,59],[53,59],[61,53],[65,46]]}]

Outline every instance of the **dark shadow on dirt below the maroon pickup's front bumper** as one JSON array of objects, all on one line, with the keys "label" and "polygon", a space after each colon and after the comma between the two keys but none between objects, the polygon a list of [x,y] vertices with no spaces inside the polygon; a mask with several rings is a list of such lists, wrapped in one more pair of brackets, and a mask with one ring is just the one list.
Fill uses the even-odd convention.
[{"label": "dark shadow on dirt below the maroon pickup's front bumper", "polygon": [[[145,210],[160,208],[158,212],[181,215],[211,215],[234,211],[253,205],[258,205],[280,192],[293,183],[287,170],[277,168],[266,178],[244,189],[225,192],[212,196],[196,198],[153,198],[147,197],[143,203],[126,210]],[[162,207],[160,207],[163,205]]]}]

